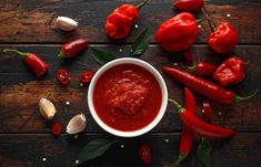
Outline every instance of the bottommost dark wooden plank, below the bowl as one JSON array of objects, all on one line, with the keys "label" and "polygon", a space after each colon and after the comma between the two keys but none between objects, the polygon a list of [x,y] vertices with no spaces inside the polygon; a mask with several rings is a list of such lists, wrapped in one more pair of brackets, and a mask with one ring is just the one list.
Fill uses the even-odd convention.
[{"label": "bottommost dark wooden plank, below the bowl", "polygon": [[[49,167],[71,166],[81,148],[93,138],[109,137],[108,135],[80,135],[78,139],[62,136],[54,139],[52,135],[1,135],[0,136],[0,166],[1,167]],[[151,167],[168,167],[178,157],[180,134],[148,134],[131,139],[117,138],[116,144],[101,157],[83,166],[93,167],[144,167],[139,159],[138,148],[145,143],[152,149]],[[169,139],[169,142],[165,142]],[[237,134],[230,140],[215,140],[211,154],[212,167],[259,167],[261,152],[261,134]],[[189,158],[183,166],[199,167],[195,155],[198,139]],[[124,145],[121,148],[120,145]],[[27,152],[24,152],[27,150]],[[42,161],[46,157],[47,161]]]}]

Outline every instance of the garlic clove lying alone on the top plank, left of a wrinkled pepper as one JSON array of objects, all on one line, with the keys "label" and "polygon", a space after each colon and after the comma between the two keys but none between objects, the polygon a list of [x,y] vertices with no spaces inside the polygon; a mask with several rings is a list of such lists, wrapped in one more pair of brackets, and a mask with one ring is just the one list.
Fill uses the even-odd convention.
[{"label": "garlic clove lying alone on the top plank, left of a wrinkled pepper", "polygon": [[57,25],[63,31],[72,31],[78,27],[78,22],[67,17],[58,17]]}]

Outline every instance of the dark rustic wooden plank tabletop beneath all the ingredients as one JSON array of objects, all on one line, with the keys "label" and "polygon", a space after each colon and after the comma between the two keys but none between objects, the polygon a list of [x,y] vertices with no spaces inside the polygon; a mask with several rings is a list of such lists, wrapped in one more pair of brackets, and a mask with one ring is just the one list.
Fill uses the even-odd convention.
[{"label": "dark rustic wooden plank tabletop beneath all the ingredients", "polygon": [[[171,2],[174,0],[150,0],[140,11],[130,36],[123,41],[111,41],[103,32],[107,14],[123,2],[138,4],[139,0],[1,0],[0,1],[0,51],[4,48],[36,52],[51,69],[42,80],[28,70],[16,54],[0,53],[0,166],[1,167],[58,167],[71,166],[81,148],[93,138],[117,138],[120,140],[102,157],[83,166],[93,167],[141,167],[138,148],[145,143],[152,148],[152,167],[165,167],[178,156],[181,124],[175,109],[168,106],[161,123],[149,134],[135,138],[118,138],[102,131],[93,121],[87,106],[88,87],[80,87],[79,73],[97,71],[101,65],[94,62],[89,51],[73,60],[59,60],[56,55],[62,43],[71,38],[89,38],[91,45],[110,51],[120,56],[128,54],[133,39],[147,27],[154,33],[159,24],[177,13]],[[207,11],[215,22],[230,21],[238,30],[240,43],[233,54],[249,61],[247,79],[231,86],[238,94],[247,95],[261,90],[261,2],[259,0],[212,0]],[[230,14],[230,17],[227,17]],[[74,32],[62,32],[56,28],[58,15],[74,18],[80,28]],[[197,14],[198,18],[202,13]],[[202,25],[192,51],[198,60],[212,63],[222,62],[225,56],[215,55],[207,44],[209,29]],[[123,52],[119,52],[122,49]],[[163,52],[154,39],[141,56],[160,72],[163,65],[184,62],[177,53]],[[71,84],[62,87],[56,81],[56,72],[67,67],[71,73]],[[161,72],[162,73],[162,72]],[[183,85],[162,74],[169,95],[182,102]],[[88,127],[78,138],[66,133],[54,138],[50,124],[39,114],[40,97],[54,102],[58,114],[54,118],[64,129],[74,114],[87,115]],[[237,135],[228,140],[214,140],[211,154],[212,167],[258,167],[261,158],[261,95],[248,102],[224,107],[213,103],[213,124],[237,128]],[[201,116],[197,95],[198,115]],[[70,102],[67,106],[66,102]],[[183,166],[198,167],[197,145]],[[121,148],[121,145],[124,145]],[[44,161],[42,158],[47,158]]]}]

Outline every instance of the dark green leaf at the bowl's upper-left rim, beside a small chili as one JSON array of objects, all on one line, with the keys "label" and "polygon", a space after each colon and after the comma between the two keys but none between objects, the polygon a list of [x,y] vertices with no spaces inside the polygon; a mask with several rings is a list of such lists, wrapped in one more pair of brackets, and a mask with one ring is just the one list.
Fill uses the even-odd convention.
[{"label": "dark green leaf at the bowl's upper-left rim, beside a small chili", "polygon": [[108,52],[98,50],[92,46],[89,46],[89,49],[90,49],[90,52],[91,52],[91,55],[93,56],[93,59],[100,64],[106,64],[106,63],[117,59],[116,55],[112,53],[108,53]]}]

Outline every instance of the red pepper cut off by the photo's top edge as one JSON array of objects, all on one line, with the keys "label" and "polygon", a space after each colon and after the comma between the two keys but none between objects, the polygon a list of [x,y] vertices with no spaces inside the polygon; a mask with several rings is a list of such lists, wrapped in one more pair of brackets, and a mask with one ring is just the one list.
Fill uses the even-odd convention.
[{"label": "red pepper cut off by the photo's top edge", "polygon": [[195,11],[204,7],[203,0],[178,0],[173,7],[181,11]]}]

